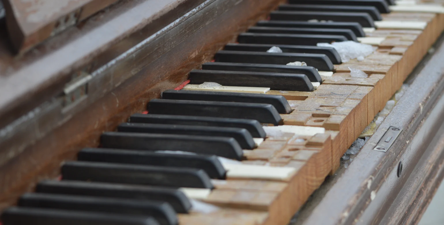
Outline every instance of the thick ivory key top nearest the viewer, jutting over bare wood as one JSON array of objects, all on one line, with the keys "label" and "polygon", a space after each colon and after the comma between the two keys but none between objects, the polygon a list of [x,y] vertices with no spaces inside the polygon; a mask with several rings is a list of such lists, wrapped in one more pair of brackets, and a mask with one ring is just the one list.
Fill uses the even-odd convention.
[{"label": "thick ivory key top nearest the viewer, jutting over bare wood", "polygon": [[296,169],[293,167],[270,167],[231,163],[223,163],[222,165],[227,170],[227,179],[289,181],[296,172]]}]

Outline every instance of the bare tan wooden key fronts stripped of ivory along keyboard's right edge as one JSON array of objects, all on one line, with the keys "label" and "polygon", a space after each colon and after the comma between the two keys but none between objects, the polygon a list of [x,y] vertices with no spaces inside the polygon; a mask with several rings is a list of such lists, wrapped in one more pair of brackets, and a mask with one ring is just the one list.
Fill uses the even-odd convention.
[{"label": "bare tan wooden key fronts stripped of ivory along keyboard's right edge", "polygon": [[[385,22],[376,30],[366,30],[364,42],[377,46],[377,50],[364,60],[335,65],[335,73],[322,76],[323,83],[313,92],[266,92],[289,101],[293,112],[281,114],[284,125],[325,128],[325,132],[305,136],[288,132],[268,136],[256,149],[244,150],[243,164],[291,167],[292,176],[278,181],[247,178],[246,172],[242,177],[215,181],[215,189],[201,200],[222,208],[210,214],[180,215],[181,224],[288,223],[325,177],[337,170],[341,156],[444,29],[444,14],[392,12],[383,17]],[[399,21],[417,23],[408,27]],[[350,68],[362,70],[368,77],[353,77]]]}]

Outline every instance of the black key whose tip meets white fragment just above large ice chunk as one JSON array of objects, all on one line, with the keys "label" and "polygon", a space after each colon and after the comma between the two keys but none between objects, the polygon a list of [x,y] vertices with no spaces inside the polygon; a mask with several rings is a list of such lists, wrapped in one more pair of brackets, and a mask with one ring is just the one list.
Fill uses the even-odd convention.
[{"label": "black key whose tip meets white fragment just above large ice chunk", "polygon": [[355,33],[350,29],[328,28],[292,28],[292,27],[250,27],[248,33],[271,34],[309,34],[309,35],[342,35],[349,41],[358,41]]}]

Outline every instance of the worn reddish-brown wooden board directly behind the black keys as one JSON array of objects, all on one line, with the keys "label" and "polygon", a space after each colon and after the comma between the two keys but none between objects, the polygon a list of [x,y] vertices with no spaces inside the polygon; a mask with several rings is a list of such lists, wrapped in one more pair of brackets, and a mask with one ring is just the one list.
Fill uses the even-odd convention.
[{"label": "worn reddish-brown wooden board directly behind the black keys", "polygon": [[[41,178],[58,175],[60,162],[74,159],[82,147],[97,146],[103,131],[114,130],[132,113],[142,112],[147,101],[185,81],[190,70],[210,61],[224,44],[259,19],[264,19],[279,2],[281,0],[206,1],[157,39],[148,39],[124,58],[118,58],[118,63],[95,70],[95,77],[103,76],[103,79],[119,78],[131,71],[135,76],[126,81],[118,79],[107,88],[112,90],[111,93],[103,97],[97,95],[100,99],[95,104],[90,104],[95,100],[88,96],[76,107],[84,110],[64,118],[63,127],[52,130],[20,154],[13,153],[14,156],[0,166],[0,209],[15,202],[18,195],[32,189]],[[138,42],[127,39],[119,47],[128,49],[135,43]],[[103,90],[101,84],[97,82],[91,86]]]}]

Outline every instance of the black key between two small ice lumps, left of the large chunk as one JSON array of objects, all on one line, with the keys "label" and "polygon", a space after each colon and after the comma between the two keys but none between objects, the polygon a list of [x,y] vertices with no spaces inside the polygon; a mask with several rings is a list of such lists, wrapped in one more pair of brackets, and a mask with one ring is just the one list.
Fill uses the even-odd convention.
[{"label": "black key between two small ice lumps, left of the large chunk", "polygon": [[278,65],[286,65],[289,62],[300,61],[307,63],[307,66],[313,66],[321,71],[333,71],[334,69],[332,61],[330,61],[325,54],[220,50],[214,55],[214,61]]}]

